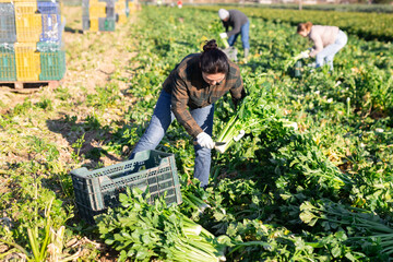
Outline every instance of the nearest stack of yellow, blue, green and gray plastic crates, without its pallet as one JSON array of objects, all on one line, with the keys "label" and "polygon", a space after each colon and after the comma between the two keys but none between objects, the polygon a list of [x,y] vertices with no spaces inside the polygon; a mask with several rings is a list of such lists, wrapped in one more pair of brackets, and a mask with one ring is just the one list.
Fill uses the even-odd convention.
[{"label": "nearest stack of yellow, blue, green and gray plastic crates, without its pallet", "polygon": [[61,80],[62,29],[58,2],[0,0],[0,82]]}]

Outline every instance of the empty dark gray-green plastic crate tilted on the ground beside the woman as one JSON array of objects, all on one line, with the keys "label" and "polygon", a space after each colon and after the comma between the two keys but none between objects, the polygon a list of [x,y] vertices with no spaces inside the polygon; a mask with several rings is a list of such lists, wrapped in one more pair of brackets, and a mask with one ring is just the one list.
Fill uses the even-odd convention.
[{"label": "empty dark gray-green plastic crate tilted on the ground beside the woman", "polygon": [[94,216],[119,204],[119,193],[126,188],[148,187],[150,202],[166,194],[167,204],[181,203],[180,183],[174,154],[143,151],[131,160],[112,166],[87,170],[85,167],[71,171],[75,202],[81,218],[94,224]]}]

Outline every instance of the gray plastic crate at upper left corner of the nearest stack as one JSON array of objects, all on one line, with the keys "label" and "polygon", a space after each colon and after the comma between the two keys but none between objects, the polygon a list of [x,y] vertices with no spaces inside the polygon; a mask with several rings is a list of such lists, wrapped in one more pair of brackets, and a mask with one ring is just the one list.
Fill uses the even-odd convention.
[{"label": "gray plastic crate at upper left corner of the nearest stack", "polygon": [[0,2],[0,43],[15,43],[15,11],[13,3]]}]

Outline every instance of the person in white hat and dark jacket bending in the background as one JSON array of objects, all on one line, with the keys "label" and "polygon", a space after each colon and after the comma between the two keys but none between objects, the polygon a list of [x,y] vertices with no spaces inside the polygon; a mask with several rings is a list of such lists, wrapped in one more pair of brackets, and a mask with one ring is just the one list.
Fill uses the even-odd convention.
[{"label": "person in white hat and dark jacket bending in the background", "polygon": [[[234,46],[237,37],[241,34],[241,44],[245,49],[245,59],[247,59],[250,51],[249,31],[250,22],[246,14],[238,10],[218,10],[218,16],[225,27],[225,33],[221,33],[219,36],[223,39],[228,38],[229,46]],[[229,26],[231,31],[229,31]]]}]

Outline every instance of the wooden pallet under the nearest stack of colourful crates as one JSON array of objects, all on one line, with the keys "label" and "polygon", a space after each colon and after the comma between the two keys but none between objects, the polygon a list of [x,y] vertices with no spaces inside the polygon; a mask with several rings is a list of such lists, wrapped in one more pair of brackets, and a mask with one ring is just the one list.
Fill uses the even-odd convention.
[{"label": "wooden pallet under the nearest stack of colourful crates", "polygon": [[15,92],[34,92],[40,90],[43,86],[49,86],[49,88],[56,88],[61,84],[58,80],[47,81],[0,81],[0,88],[2,86],[11,87]]}]

